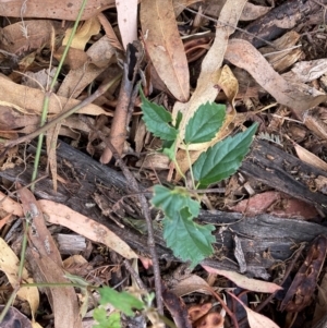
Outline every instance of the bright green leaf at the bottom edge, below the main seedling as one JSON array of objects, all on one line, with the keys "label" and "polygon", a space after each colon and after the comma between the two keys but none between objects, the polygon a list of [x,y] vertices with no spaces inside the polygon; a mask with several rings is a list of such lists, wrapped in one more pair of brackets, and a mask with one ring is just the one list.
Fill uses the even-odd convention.
[{"label": "bright green leaf at the bottom edge, below the main seedling", "polygon": [[128,316],[134,316],[133,308],[142,309],[144,304],[135,296],[126,292],[117,292],[114,289],[104,287],[99,289],[101,295],[100,304],[110,303],[114,308],[123,312]]}]

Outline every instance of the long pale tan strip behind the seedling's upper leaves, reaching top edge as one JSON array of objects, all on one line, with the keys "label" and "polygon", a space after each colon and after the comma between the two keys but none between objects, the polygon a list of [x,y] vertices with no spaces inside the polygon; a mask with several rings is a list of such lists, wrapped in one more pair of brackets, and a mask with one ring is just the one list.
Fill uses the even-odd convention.
[{"label": "long pale tan strip behind the seedling's upper leaves, reaching top edge", "polygon": [[[184,138],[185,134],[185,126],[189,120],[194,116],[194,112],[197,108],[206,102],[215,101],[219,87],[225,86],[228,93],[228,96],[231,96],[229,100],[233,99],[233,94],[237,90],[238,82],[237,80],[232,78],[228,70],[229,69],[220,69],[221,63],[223,61],[225,51],[228,45],[229,36],[234,32],[234,28],[231,26],[237,26],[239,17],[242,13],[242,9],[246,1],[234,1],[228,0],[226,1],[220,15],[219,21],[229,22],[229,26],[223,26],[218,24],[216,28],[216,36],[214,44],[211,45],[209,51],[207,52],[206,57],[204,58],[201,66],[201,73],[197,80],[196,89],[194,90],[191,99],[186,104],[175,102],[173,107],[172,114],[177,118],[178,112],[182,112],[183,118],[180,123],[180,141],[178,143],[178,147],[181,147],[181,141]],[[226,78],[229,76],[229,78]],[[221,80],[220,80],[221,78]],[[237,84],[235,84],[237,83]],[[233,100],[232,100],[233,101]],[[233,104],[233,102],[231,102]],[[226,133],[225,127],[230,123],[233,119],[234,110],[227,116],[226,124],[222,126],[220,133]],[[227,130],[228,131],[228,130]],[[222,135],[221,135],[222,136]],[[201,150],[198,151],[190,151],[191,162],[193,163],[202,151],[205,151],[209,145],[214,145],[218,142],[217,137],[210,144],[203,145]],[[192,145],[195,149],[197,148],[196,145]],[[177,161],[182,172],[186,172],[190,165],[189,161],[185,160],[187,157],[185,156],[184,150],[179,150],[177,154]],[[177,174],[175,180],[179,180],[180,175]]]}]

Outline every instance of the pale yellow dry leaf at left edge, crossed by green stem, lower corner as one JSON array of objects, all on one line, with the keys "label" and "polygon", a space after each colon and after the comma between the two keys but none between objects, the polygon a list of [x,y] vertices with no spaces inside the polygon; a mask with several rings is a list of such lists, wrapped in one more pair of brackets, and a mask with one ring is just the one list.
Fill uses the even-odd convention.
[{"label": "pale yellow dry leaf at left edge, crossed by green stem, lower corner", "polygon": [[[10,284],[15,288],[20,284],[19,282],[19,267],[20,267],[20,259],[15,255],[15,253],[9,247],[9,245],[4,242],[3,239],[0,238],[0,270],[3,271],[10,282]],[[33,279],[28,277],[27,270],[23,269],[22,276],[23,282],[25,283],[33,283]],[[33,317],[39,305],[39,294],[38,289],[36,287],[25,287],[21,288],[17,292],[17,295],[27,301]]]}]

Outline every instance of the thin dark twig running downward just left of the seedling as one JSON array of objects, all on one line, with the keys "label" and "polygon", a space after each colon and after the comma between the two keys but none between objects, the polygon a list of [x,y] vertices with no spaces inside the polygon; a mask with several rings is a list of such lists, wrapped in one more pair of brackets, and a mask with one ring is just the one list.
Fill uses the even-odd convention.
[{"label": "thin dark twig running downward just left of the seedling", "polygon": [[[125,175],[128,182],[130,183],[130,189],[134,193],[140,193],[138,184],[134,175],[130,172],[129,168],[125,166],[123,160],[121,159],[120,155],[116,150],[116,148],[112,146],[110,141],[108,141],[104,134],[99,131],[97,131],[97,134],[99,138],[106,144],[106,146],[110,149],[112,156],[117,160],[117,163],[121,168],[123,174]],[[149,253],[153,258],[153,265],[154,265],[154,275],[155,275],[155,289],[156,289],[156,299],[157,299],[157,308],[158,313],[160,315],[164,315],[164,304],[162,304],[162,292],[161,292],[161,279],[160,279],[160,269],[159,269],[159,262],[158,256],[156,253],[156,243],[155,243],[155,234],[154,234],[154,227],[152,217],[149,214],[149,207],[146,197],[144,194],[138,194],[138,201],[141,203],[141,208],[143,210],[144,218],[146,220],[147,226],[147,245],[149,247]]]}]

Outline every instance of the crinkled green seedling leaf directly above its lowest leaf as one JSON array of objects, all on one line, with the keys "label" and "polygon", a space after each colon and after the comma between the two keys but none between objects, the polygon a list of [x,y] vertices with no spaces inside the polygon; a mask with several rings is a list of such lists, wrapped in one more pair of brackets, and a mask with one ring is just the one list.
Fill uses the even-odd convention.
[{"label": "crinkled green seedling leaf directly above its lowest leaf", "polygon": [[166,217],[173,219],[177,211],[184,207],[189,208],[193,218],[198,216],[199,202],[193,201],[184,187],[170,190],[164,185],[155,185],[152,203],[161,208]]}]

